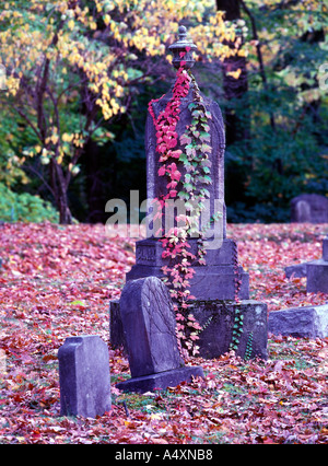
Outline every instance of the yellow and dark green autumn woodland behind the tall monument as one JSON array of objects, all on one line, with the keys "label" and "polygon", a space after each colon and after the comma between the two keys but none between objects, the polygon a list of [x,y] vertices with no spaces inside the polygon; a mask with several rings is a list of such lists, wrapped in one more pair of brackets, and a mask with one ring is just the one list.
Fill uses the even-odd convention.
[{"label": "yellow and dark green autumn woodland behind the tall monument", "polygon": [[[2,7],[0,183],[21,193],[47,189],[61,222],[71,221],[72,185],[85,202],[94,148],[105,147],[103,173],[119,158],[117,143],[126,144],[127,159],[138,153],[140,107],[147,112],[147,102],[160,96],[154,88],[149,95],[150,86],[171,69],[163,71],[166,48],[181,23],[199,49],[201,89],[225,114],[230,219],[285,219],[292,196],[327,191],[323,0],[20,0]],[[119,170],[112,172],[117,177]]]}]

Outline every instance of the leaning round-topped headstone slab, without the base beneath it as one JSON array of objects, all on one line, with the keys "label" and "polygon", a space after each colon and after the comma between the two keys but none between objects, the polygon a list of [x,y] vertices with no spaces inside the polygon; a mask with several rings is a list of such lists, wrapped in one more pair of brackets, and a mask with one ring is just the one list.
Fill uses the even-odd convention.
[{"label": "leaning round-topped headstone slab, without the base beneath it", "polygon": [[132,377],[183,364],[172,301],[161,280],[148,277],[128,282],[120,298],[120,315]]}]

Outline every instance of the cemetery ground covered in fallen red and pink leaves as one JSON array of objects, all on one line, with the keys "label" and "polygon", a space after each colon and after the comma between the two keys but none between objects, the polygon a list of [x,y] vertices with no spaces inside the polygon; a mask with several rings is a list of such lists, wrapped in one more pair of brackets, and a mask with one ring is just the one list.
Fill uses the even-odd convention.
[{"label": "cemetery ground covered in fallen red and pink leaves", "polygon": [[[128,360],[109,343],[108,305],[134,263],[134,240],[102,225],[2,224],[0,257],[0,443],[328,442],[328,339],[269,335],[268,361],[226,353],[192,358],[206,378],[166,391],[124,394]],[[321,257],[326,225],[229,225],[249,272],[250,299],[268,311],[325,304],[284,267]],[[60,417],[58,348],[66,337],[109,346],[110,411]]]}]

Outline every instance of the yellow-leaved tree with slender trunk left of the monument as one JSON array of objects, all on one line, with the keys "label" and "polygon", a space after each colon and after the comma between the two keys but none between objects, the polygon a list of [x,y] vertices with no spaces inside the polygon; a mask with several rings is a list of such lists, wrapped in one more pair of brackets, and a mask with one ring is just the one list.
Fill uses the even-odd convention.
[{"label": "yellow-leaved tree with slender trunk left of the monument", "polygon": [[114,137],[105,121],[129,110],[132,85],[151,74],[184,21],[209,59],[245,54],[211,0],[4,3],[0,65],[7,79],[0,97],[34,132],[35,144],[23,155],[47,165],[61,223],[71,222],[67,193],[85,144]]}]

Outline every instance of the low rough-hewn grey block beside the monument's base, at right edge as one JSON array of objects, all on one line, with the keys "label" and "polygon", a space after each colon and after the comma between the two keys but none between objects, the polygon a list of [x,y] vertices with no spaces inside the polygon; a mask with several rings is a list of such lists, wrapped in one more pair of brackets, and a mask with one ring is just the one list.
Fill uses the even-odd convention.
[{"label": "low rough-hewn grey block beside the monument's base, at right edge", "polygon": [[271,312],[268,329],[273,335],[327,338],[328,305],[293,307]]}]

